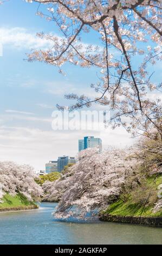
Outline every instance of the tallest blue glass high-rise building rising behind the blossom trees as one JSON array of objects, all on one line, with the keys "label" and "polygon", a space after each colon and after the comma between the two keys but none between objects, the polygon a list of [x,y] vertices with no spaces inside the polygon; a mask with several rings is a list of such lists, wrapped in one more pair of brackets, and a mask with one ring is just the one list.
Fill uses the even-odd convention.
[{"label": "tallest blue glass high-rise building rising behind the blossom trees", "polygon": [[87,136],[84,139],[79,139],[79,151],[87,148],[99,148],[102,150],[102,139],[94,138],[94,136]]}]

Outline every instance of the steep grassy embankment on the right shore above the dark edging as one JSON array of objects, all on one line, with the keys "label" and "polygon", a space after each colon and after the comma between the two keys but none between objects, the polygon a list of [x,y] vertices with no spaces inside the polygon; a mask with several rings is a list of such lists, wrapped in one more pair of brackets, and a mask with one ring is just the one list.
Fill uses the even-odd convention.
[{"label": "steep grassy embankment on the right shore above the dark edging", "polygon": [[[149,184],[153,184],[154,178],[147,180]],[[162,184],[162,176],[160,175],[155,180],[155,185],[158,187]],[[134,203],[131,194],[129,194],[127,202],[118,200],[117,202],[109,205],[109,207],[101,212],[101,214],[109,214],[113,216],[134,216],[134,217],[162,217],[162,210],[154,213],[152,212],[153,205],[143,206],[138,203]]]}]

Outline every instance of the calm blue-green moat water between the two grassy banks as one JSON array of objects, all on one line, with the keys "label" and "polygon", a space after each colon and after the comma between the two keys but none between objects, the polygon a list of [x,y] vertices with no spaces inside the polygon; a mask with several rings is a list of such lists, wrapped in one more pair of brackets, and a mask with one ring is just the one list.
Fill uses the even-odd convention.
[{"label": "calm blue-green moat water between the two grassy banks", "polygon": [[55,203],[0,214],[0,244],[162,244],[162,228],[110,222],[55,221]]}]

